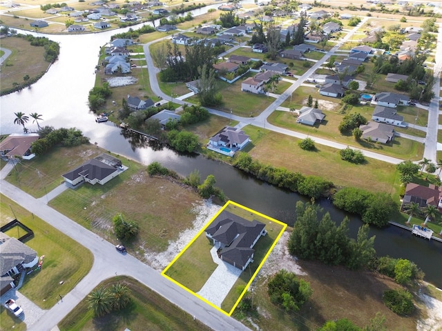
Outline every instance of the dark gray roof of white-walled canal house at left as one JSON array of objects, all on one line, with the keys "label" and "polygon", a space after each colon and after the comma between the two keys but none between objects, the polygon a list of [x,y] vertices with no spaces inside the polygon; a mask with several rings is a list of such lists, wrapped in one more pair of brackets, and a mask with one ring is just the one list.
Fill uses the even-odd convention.
[{"label": "dark gray roof of white-walled canal house at left", "polygon": [[[112,158],[111,155],[108,155],[108,157]],[[90,181],[93,179],[101,181],[117,170],[117,165],[110,165],[108,164],[109,161],[106,160],[107,158],[101,154],[62,176],[70,181],[73,181],[80,176],[87,177]],[[119,164],[121,165],[121,162]]]}]

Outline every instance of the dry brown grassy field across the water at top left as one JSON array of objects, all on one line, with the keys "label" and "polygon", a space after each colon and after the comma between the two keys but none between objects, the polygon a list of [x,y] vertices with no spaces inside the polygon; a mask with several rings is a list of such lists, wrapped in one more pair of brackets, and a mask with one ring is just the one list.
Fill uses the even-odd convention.
[{"label": "dry brown grassy field across the water at top left", "polygon": [[23,38],[3,38],[1,47],[12,50],[12,54],[1,66],[1,90],[12,88],[14,83],[23,83],[26,74],[30,78],[36,77],[49,66],[44,60],[44,48],[31,46],[30,42]]}]

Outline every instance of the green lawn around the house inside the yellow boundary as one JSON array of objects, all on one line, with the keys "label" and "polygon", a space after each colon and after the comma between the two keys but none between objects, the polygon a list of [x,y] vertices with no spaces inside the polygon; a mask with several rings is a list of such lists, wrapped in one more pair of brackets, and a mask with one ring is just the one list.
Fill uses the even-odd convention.
[{"label": "green lawn around the house inside the yellow boundary", "polygon": [[[222,310],[230,312],[236,301],[238,301],[240,294],[242,294],[242,290],[244,290],[244,287],[249,283],[251,277],[254,276],[265,255],[269,252],[276,238],[282,232],[283,226],[231,203],[229,203],[224,210],[248,221],[256,219],[257,221],[265,223],[265,229],[267,230],[267,235],[260,238],[258,243],[253,247],[255,250],[253,263],[249,264],[247,269],[241,273],[238,281],[236,281],[229,294],[227,294],[226,299],[222,302]],[[189,290],[198,292],[217,267],[217,265],[213,263],[210,254],[211,248],[213,248],[213,243],[206,238],[205,232],[201,232],[198,238],[184,250],[177,261],[166,270],[166,276],[186,286]]]}]

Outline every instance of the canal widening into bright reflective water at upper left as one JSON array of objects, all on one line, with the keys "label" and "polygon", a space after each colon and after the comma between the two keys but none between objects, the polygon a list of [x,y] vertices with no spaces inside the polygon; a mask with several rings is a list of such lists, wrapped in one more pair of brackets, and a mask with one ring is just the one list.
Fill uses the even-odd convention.
[{"label": "canal widening into bright reflective water at upper left", "polygon": [[[220,3],[209,8],[216,6],[220,6]],[[193,11],[194,16],[209,8]],[[113,123],[95,123],[95,116],[88,111],[88,91],[95,83],[94,70],[99,48],[115,33],[117,31],[113,30],[97,34],[48,36],[60,43],[59,60],[32,88],[0,98],[0,133],[22,132],[21,127],[13,123],[14,112],[38,112],[44,119],[40,123],[42,126],[79,128],[90,137],[91,143],[141,163],[159,161],[183,176],[195,169],[200,171],[202,178],[214,174],[217,185],[231,200],[293,225],[296,201],[305,200],[303,197],[252,179],[219,161],[149,147],[138,137],[124,137],[122,130]],[[32,124],[32,121],[28,122],[27,127],[37,130],[37,124]],[[319,203],[335,221],[340,222],[345,217],[345,213],[334,208],[330,201]],[[349,215],[349,218],[350,234],[356,237],[362,222],[354,215]],[[414,261],[425,272],[425,280],[442,288],[441,243],[412,237],[410,232],[395,227],[383,230],[372,228],[370,235],[376,235],[375,248],[379,255],[389,254]]]}]

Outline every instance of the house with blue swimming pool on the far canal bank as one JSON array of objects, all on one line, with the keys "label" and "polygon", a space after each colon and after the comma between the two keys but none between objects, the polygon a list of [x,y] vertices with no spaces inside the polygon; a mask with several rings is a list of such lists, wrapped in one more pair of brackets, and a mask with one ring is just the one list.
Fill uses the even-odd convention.
[{"label": "house with blue swimming pool on the far canal bank", "polygon": [[215,134],[207,148],[215,152],[233,157],[237,150],[242,150],[249,143],[250,137],[244,131],[226,126]]}]

